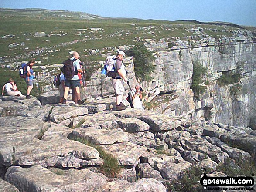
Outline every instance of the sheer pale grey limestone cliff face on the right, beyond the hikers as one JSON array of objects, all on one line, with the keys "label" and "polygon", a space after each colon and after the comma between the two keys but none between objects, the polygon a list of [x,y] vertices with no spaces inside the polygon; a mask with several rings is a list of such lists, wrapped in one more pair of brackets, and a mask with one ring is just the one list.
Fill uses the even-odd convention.
[{"label": "sheer pale grey limestone cliff face on the right, beyond the hikers", "polygon": [[[195,119],[208,116],[206,119],[211,122],[254,128],[255,50],[255,43],[236,43],[155,53],[157,69],[154,81],[143,82],[144,88],[150,93],[145,106],[148,101],[156,101],[155,105],[147,108]],[[190,89],[193,63],[206,67],[206,80],[210,82],[204,85],[206,91],[195,103]],[[221,87],[217,80],[225,71],[239,67],[242,67],[240,91],[234,94],[234,84]]]}]

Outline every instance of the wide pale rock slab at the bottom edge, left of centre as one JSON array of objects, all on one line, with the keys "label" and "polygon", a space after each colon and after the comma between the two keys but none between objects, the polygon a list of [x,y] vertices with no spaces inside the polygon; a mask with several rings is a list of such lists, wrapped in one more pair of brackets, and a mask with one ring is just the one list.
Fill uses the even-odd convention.
[{"label": "wide pale rock slab at the bottom edge, left of centre", "polygon": [[5,180],[26,192],[92,192],[106,184],[106,177],[89,169],[69,169],[58,174],[39,165],[31,168],[12,166]]}]

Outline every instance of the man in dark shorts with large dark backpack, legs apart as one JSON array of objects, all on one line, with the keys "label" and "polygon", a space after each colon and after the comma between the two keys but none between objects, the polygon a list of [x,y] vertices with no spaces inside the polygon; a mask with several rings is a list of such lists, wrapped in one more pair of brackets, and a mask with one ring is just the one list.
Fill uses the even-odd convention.
[{"label": "man in dark shorts with large dark backpack, legs apart", "polygon": [[[67,103],[68,99],[68,91],[69,88],[74,88],[77,93],[77,104],[83,104],[83,101],[81,101],[80,98],[80,80],[78,77],[78,72],[83,72],[80,67],[80,60],[79,60],[79,54],[76,51],[69,52],[73,55],[72,58],[66,60],[63,62],[64,67],[62,68],[62,72],[65,75],[66,81],[65,81],[65,91],[64,91],[64,99],[62,101],[62,104]],[[72,66],[71,66],[72,65]],[[73,70],[73,71],[72,71]]]}]

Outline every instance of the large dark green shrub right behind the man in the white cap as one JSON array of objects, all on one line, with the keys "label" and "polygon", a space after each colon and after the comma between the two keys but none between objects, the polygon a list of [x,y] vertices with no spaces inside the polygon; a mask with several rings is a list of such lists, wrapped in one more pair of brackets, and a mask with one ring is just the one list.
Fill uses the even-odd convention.
[{"label": "large dark green shrub right behind the man in the white cap", "polygon": [[143,44],[136,44],[130,51],[134,57],[135,76],[142,81],[150,81],[150,74],[155,70],[154,56]]}]

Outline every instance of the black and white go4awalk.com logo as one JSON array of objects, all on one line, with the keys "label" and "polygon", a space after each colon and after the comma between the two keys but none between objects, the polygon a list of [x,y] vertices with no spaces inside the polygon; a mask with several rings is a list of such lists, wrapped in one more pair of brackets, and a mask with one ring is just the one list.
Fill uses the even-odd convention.
[{"label": "black and white go4awalk.com logo", "polygon": [[201,177],[201,185],[206,190],[253,190],[253,177],[223,177],[223,176],[207,176],[206,173]]}]

